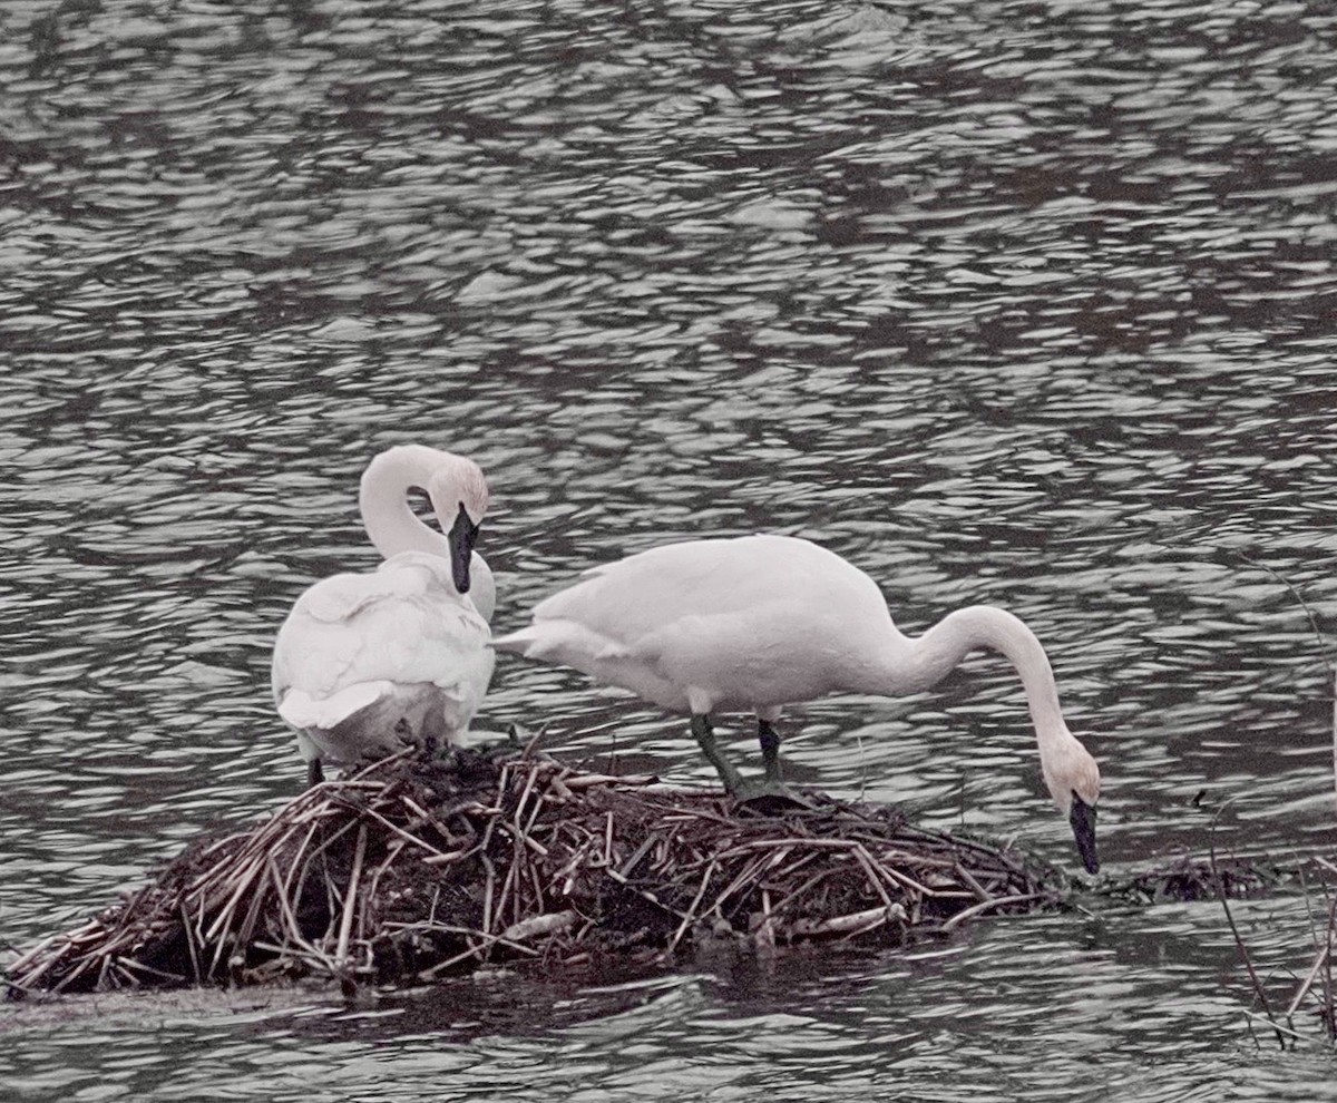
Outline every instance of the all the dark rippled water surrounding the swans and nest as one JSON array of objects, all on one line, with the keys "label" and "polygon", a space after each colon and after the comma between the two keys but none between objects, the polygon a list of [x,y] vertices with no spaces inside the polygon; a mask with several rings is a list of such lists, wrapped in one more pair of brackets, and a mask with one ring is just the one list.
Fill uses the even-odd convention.
[{"label": "all the dark rippled water surrounding the swans and nest", "polygon": [[[1111,872],[1230,798],[1219,846],[1330,850],[1334,59],[1321,0],[0,4],[0,940],[298,790],[269,647],[370,566],[357,475],[408,440],[488,471],[500,628],[627,551],[805,535],[908,631],[1027,619]],[[484,709],[710,779],[562,671],[501,662]],[[785,733],[802,782],[1072,864],[997,660]],[[1243,921],[1308,964],[1302,901]],[[1255,1046],[1210,904],[598,989],[29,1016],[0,1082],[1337,1096]]]}]

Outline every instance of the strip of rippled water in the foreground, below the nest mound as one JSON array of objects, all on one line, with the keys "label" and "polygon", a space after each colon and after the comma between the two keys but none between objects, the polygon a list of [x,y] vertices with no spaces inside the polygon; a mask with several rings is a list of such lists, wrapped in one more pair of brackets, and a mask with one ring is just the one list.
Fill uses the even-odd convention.
[{"label": "strip of rippled water in the foreground, below the nest mound", "polygon": [[[1246,923],[1289,925],[1301,910],[1258,905]],[[1116,1086],[1120,1098],[1158,1100],[1199,1098],[1222,1082],[1241,1098],[1305,1098],[1297,1075],[1320,1075],[1317,1054],[1282,1062],[1253,1047],[1238,999],[1218,981],[1234,947],[1215,912],[1210,904],[1095,925],[1003,921],[968,944],[880,959],[717,961],[706,972],[570,991],[481,977],[364,1011],[294,1005],[282,993],[253,996],[254,1008],[234,1000],[227,1012],[122,999],[139,1007],[111,1001],[99,1017],[114,1046],[20,1027],[0,1067],[28,1059],[45,1068],[59,1054],[60,1074],[9,1082],[33,1095],[59,1086],[66,1098],[94,1075],[102,1098],[144,1099],[187,1099],[226,1083],[235,1098],[273,1099],[675,1091],[797,1100],[876,1090],[1078,1099]],[[1266,943],[1259,951],[1274,952]],[[528,1023],[516,1013],[525,1003]]]}]

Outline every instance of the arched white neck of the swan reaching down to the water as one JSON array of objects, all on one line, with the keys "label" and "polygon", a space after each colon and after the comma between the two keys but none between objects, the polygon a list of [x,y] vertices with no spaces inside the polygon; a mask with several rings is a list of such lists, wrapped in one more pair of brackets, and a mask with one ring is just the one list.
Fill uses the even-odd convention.
[{"label": "arched white neck of the swan reaching down to the water", "polygon": [[969,606],[948,614],[917,639],[900,636],[886,674],[896,693],[919,693],[937,685],[979,647],[999,651],[1021,675],[1042,745],[1067,734],[1050,658],[1035,632],[1005,610]]}]

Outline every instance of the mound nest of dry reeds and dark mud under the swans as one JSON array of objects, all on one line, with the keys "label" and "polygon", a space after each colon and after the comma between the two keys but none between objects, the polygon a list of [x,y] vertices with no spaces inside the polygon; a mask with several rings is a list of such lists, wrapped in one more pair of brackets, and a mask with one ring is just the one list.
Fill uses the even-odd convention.
[{"label": "mound nest of dry reeds and dark mud under the swans", "polygon": [[488,961],[670,957],[707,940],[896,944],[1058,904],[1062,878],[885,808],[731,798],[456,750],[386,759],[203,840],[8,969],[12,992],[424,981]]}]

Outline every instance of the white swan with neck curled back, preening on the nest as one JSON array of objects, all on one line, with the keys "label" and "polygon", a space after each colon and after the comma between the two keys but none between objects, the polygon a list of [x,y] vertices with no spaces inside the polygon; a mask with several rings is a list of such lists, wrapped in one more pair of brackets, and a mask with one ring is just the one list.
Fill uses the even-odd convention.
[{"label": "white swan with neck curled back, preening on the nest", "polygon": [[[427,491],[441,536],[405,499]],[[418,444],[390,448],[362,475],[358,505],[385,562],[334,575],[301,598],[274,642],[279,715],[297,729],[308,777],[404,743],[451,742],[492,678],[492,572],[473,551],[488,505],[477,464]]]}]

